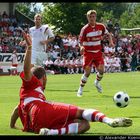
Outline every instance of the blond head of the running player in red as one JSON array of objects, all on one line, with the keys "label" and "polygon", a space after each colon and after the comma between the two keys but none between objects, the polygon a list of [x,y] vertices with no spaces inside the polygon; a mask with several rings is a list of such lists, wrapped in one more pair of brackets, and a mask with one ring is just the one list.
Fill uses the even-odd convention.
[{"label": "blond head of the running player in red", "polygon": [[97,15],[97,12],[95,10],[89,10],[87,12],[87,19],[90,24],[93,24],[96,22],[96,15]]}]

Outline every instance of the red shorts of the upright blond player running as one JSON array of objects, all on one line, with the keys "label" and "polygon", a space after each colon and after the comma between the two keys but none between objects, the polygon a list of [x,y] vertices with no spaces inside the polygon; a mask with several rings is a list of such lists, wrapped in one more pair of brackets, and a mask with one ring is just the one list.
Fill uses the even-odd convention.
[{"label": "red shorts of the upright blond player running", "polygon": [[83,68],[85,68],[86,66],[92,67],[92,65],[94,65],[95,67],[104,65],[104,58],[101,51],[97,53],[85,51],[83,53]]}]

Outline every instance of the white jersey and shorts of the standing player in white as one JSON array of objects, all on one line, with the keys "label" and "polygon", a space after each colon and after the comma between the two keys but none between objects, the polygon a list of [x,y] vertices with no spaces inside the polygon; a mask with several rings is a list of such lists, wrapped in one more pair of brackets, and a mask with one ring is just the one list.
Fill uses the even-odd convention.
[{"label": "white jersey and shorts of the standing player in white", "polygon": [[48,38],[54,37],[52,30],[48,25],[42,25],[40,28],[31,27],[29,34],[32,38],[32,58],[31,63],[35,65],[42,65],[43,61],[46,60],[46,45],[42,45],[40,42],[45,41]]}]

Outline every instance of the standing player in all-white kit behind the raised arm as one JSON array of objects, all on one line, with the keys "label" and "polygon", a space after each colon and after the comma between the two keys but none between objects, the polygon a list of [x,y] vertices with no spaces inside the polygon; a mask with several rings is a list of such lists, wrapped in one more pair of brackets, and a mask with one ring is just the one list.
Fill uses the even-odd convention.
[{"label": "standing player in all-white kit behind the raised arm", "polygon": [[46,47],[48,43],[54,40],[54,34],[48,25],[42,25],[42,16],[36,14],[34,16],[35,26],[29,29],[32,40],[32,65],[42,65],[46,60]]}]

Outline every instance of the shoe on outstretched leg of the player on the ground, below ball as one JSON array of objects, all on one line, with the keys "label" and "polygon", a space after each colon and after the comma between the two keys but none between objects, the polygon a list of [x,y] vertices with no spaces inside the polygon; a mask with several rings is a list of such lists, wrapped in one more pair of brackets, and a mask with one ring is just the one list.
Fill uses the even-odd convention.
[{"label": "shoe on outstretched leg of the player on the ground, below ball", "polygon": [[132,125],[132,120],[130,118],[115,118],[109,125],[111,127],[129,127]]}]

